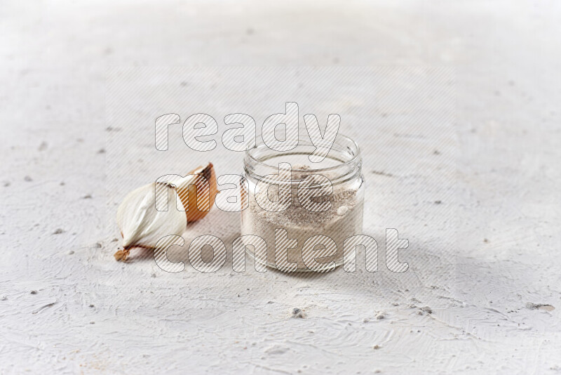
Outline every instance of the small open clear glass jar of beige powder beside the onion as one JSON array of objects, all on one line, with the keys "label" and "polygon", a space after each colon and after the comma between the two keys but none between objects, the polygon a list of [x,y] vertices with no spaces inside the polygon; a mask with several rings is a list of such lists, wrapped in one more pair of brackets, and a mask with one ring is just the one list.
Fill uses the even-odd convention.
[{"label": "small open clear glass jar of beige powder beside the onion", "polygon": [[[343,263],[344,240],[362,234],[365,183],[358,145],[339,134],[327,157],[322,162],[312,163],[308,157],[315,149],[309,138],[301,135],[298,146],[288,152],[271,150],[264,143],[245,152],[244,176],[249,190],[245,183],[241,184],[242,204],[248,205],[241,211],[241,235],[245,236],[243,243],[251,245],[245,249],[260,265],[285,272],[326,272]],[[280,169],[279,173],[279,163],[289,163],[290,169]],[[279,174],[288,178],[271,179]],[[325,176],[330,183],[325,178],[308,177],[310,175]],[[325,191],[318,197],[308,194],[306,201],[306,190],[300,196],[299,191],[310,180],[325,187],[327,192],[328,185],[332,185],[331,194]],[[290,193],[288,201],[283,199],[287,193]],[[273,202],[271,206],[259,203],[265,196]],[[256,197],[261,200],[258,202]],[[278,211],[281,201],[287,203],[288,208],[283,206]],[[264,239],[266,249],[252,236]]]}]

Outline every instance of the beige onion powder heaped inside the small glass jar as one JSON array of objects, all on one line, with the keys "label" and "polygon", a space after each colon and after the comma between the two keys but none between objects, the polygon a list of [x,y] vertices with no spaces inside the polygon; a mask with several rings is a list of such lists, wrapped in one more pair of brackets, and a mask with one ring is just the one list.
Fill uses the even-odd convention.
[{"label": "beige onion powder heaped inside the small glass jar", "polygon": [[[310,166],[294,165],[292,166],[292,180],[303,180],[306,176],[314,173],[311,171]],[[307,172],[310,171],[310,172]],[[325,177],[330,178],[329,175],[324,174]],[[331,179],[331,178],[330,178]],[[317,246],[318,251],[313,251],[314,256],[318,263],[324,263],[325,268],[319,267],[314,270],[330,270],[334,261],[335,265],[340,265],[343,261],[343,243],[344,240],[352,237],[353,235],[362,234],[363,228],[363,204],[358,204],[357,192],[358,187],[353,184],[339,184],[333,185],[333,192],[330,195],[318,198],[311,198],[312,202],[325,202],[329,201],[331,207],[327,211],[314,212],[304,208],[300,204],[298,195],[298,184],[292,184],[292,203],[285,211],[271,212],[262,209],[257,204],[255,199],[255,185],[250,188],[249,206],[242,215],[242,234],[243,235],[257,235],[262,237],[267,244],[267,265],[274,267],[276,262],[276,244],[275,244],[275,230],[284,229],[287,231],[288,239],[296,239],[297,246],[289,248],[288,262],[296,263],[297,270],[306,271],[309,268],[302,260],[302,247],[304,242],[310,237],[316,235],[324,235],[333,239],[337,245],[337,253],[335,255],[323,256],[325,254],[334,254],[334,249],[320,250],[323,246]],[[276,195],[276,197],[275,197]],[[278,199],[278,189],[269,191],[271,200]],[[277,255],[281,259],[283,254]],[[258,261],[256,259],[256,261]],[[310,264],[309,261],[306,263]],[[312,263],[313,264],[313,263]],[[282,268],[281,264],[277,268]]]}]

